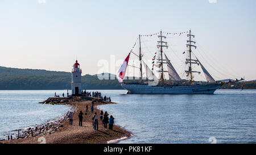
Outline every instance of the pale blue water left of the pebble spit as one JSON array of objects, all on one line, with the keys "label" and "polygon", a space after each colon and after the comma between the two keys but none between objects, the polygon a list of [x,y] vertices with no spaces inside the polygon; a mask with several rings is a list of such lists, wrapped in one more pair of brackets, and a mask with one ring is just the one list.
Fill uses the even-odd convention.
[{"label": "pale blue water left of the pebble spit", "polygon": [[46,123],[68,112],[69,106],[38,103],[54,97],[55,92],[62,95],[67,90],[0,90],[0,139],[17,134],[16,129]]}]

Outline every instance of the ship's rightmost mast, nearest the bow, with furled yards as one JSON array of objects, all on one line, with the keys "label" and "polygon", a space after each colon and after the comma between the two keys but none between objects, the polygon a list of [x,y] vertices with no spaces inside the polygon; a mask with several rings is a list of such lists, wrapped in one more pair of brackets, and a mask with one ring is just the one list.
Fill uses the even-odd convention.
[{"label": "ship's rightmost mast, nearest the bow, with furled yards", "polygon": [[198,62],[197,60],[192,60],[192,58],[191,58],[191,52],[192,52],[191,47],[195,47],[195,49],[196,49],[196,46],[191,44],[191,43],[196,44],[195,41],[191,40],[191,36],[195,37],[195,35],[191,35],[191,30],[189,30],[189,35],[188,35],[189,40],[187,40],[187,43],[189,43],[189,44],[187,44],[187,47],[189,47],[189,50],[188,50],[189,58],[186,59],[186,62],[185,62],[186,64],[188,64],[188,62],[189,62],[189,66],[188,66],[188,70],[185,70],[185,72],[187,73],[187,76],[189,76],[189,74],[190,74],[190,83],[192,85],[192,82],[193,82],[192,73],[199,73],[200,74],[200,72],[196,72],[196,71],[192,70],[192,64],[197,64],[197,65],[199,65],[199,64],[197,63]]}]

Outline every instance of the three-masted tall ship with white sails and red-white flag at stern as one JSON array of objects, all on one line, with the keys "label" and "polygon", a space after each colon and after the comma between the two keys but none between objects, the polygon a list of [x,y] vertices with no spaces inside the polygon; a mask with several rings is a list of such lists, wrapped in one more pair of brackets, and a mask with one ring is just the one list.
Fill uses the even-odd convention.
[{"label": "three-masted tall ship with white sails and red-white flag at stern", "polygon": [[[172,65],[170,59],[164,52],[164,48],[168,48],[167,41],[164,41],[164,39],[166,39],[166,36],[163,36],[162,31],[156,34],[159,34],[159,41],[156,45],[159,50],[158,52],[156,52],[158,53],[158,58],[156,58],[156,55],[153,58],[153,60],[156,62],[155,64],[153,64],[153,66],[157,69],[157,76],[153,72],[154,68],[150,69],[142,58],[143,55],[141,49],[141,35],[139,35],[138,38],[138,55],[133,51],[130,51],[121,68],[118,70],[118,81],[121,83],[123,89],[127,90],[128,94],[213,94],[214,91],[216,91],[216,89],[220,88],[222,85],[244,80],[243,78],[241,78],[240,80],[236,79],[234,81],[228,82],[217,82],[209,74],[207,69],[205,69],[205,67],[201,64],[196,56],[195,58],[192,58],[192,49],[196,49],[196,42],[192,40],[192,37],[194,38],[195,35],[191,34],[191,30],[189,30],[189,32],[187,33],[188,40],[186,45],[188,50],[185,52],[188,52],[188,57],[185,58],[184,62],[188,66],[187,69],[184,70],[184,73],[187,76],[187,80],[181,79],[179,74],[176,72],[174,66]],[[140,70],[141,75],[139,80],[137,81],[124,80],[127,66],[133,66],[129,65],[129,58],[131,53],[133,53],[139,59],[139,67],[137,68]],[[201,73],[199,71],[193,70],[193,65],[198,65],[201,67],[201,70],[203,70],[207,82],[196,82],[193,80],[194,74]],[[144,68],[142,68],[142,66],[144,66]],[[143,78],[143,72],[146,73],[146,78]],[[168,80],[164,79],[164,73],[168,74]]]}]

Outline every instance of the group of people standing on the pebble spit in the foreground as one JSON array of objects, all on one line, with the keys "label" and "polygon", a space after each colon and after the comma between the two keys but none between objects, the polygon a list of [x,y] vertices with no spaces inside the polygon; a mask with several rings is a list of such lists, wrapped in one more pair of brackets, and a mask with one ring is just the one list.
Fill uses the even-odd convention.
[{"label": "group of people standing on the pebble spit in the foreground", "polygon": [[[97,114],[97,112],[93,113],[93,106],[94,106],[94,100],[92,100],[92,106],[91,106],[91,110],[92,110],[92,125],[93,125],[93,129],[94,130],[98,130],[98,124],[102,123],[104,124],[105,128],[108,128],[108,124],[109,124],[109,129],[113,130],[113,124],[114,124],[114,117],[112,115],[109,116],[108,112],[105,111],[103,112],[101,110],[100,112],[100,117]],[[86,113],[88,112],[88,104],[86,104]],[[82,126],[82,120],[83,120],[83,116],[84,113],[82,111],[79,112],[79,126]],[[70,114],[68,115],[69,118],[69,125],[73,125],[73,113],[70,112]]]}]

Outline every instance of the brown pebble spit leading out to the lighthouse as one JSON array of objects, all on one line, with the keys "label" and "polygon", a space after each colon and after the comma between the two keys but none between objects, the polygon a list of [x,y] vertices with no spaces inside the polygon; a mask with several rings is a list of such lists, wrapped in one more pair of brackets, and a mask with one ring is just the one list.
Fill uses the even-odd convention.
[{"label": "brown pebble spit leading out to the lighthouse", "polygon": [[[98,131],[92,127],[92,117],[90,107],[92,100],[94,101],[94,112],[100,114],[97,106],[102,104],[115,104],[98,98],[91,97],[64,97],[64,98],[48,98],[40,104],[65,104],[71,106],[71,112],[74,113],[73,125],[69,125],[68,114],[54,120],[48,120],[44,124],[34,125],[27,128],[19,129],[19,135],[13,136],[12,140],[2,140],[3,144],[98,144],[112,143],[118,139],[126,139],[131,136],[118,125],[114,125],[113,130],[104,128],[101,122],[98,125]],[[86,104],[88,111],[86,112]],[[82,111],[84,119],[82,126],[79,126],[79,112]],[[114,114],[110,114],[113,115]],[[17,129],[18,132],[18,129]]]}]

